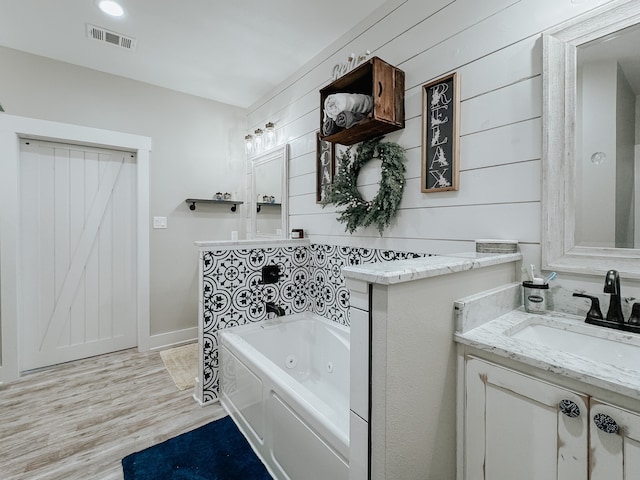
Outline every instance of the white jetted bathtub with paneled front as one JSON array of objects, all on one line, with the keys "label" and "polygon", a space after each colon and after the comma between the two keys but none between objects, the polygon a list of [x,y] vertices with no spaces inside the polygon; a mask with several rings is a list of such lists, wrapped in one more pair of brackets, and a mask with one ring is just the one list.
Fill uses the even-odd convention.
[{"label": "white jetted bathtub with paneled front", "polygon": [[312,313],[219,332],[220,401],[278,480],[349,478],[349,329]]}]

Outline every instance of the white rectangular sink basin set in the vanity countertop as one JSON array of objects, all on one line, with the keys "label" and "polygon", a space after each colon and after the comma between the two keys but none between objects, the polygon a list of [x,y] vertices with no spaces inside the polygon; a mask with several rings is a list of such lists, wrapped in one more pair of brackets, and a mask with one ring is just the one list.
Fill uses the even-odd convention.
[{"label": "white rectangular sink basin set in the vanity countertop", "polygon": [[620,368],[640,371],[640,335],[552,317],[529,317],[506,335]]}]

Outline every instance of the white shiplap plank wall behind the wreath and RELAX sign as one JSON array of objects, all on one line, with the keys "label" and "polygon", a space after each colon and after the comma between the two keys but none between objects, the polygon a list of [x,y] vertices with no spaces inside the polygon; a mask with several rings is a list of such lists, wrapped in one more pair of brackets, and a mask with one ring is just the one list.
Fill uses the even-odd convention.
[{"label": "white shiplap plank wall behind the wreath and RELAX sign", "polygon": [[[290,226],[313,242],[426,253],[474,249],[477,238],[520,242],[525,263],[540,264],[542,144],[541,32],[608,0],[396,0],[250,107],[249,129],[277,123],[290,143]],[[335,12],[334,14],[339,14]],[[350,53],[405,72],[406,127],[387,135],[407,150],[407,186],[396,221],[344,231],[332,208],[315,203],[319,89]],[[461,81],[460,190],[420,192],[421,85],[450,71]],[[379,173],[359,178],[365,196]]]}]

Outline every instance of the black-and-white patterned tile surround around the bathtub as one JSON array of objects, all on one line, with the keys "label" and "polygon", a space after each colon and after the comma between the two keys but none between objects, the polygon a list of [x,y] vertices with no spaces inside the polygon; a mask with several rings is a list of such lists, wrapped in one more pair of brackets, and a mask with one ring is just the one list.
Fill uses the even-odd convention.
[{"label": "black-and-white patterned tile surround around the bathtub", "polygon": [[[310,310],[349,325],[349,291],[342,268],[427,254],[310,244],[305,240],[196,242],[200,248],[202,373],[196,386],[201,403],[218,398],[218,330],[267,319],[266,302],[287,314]],[[277,264],[281,279],[259,283],[261,269]]]}]

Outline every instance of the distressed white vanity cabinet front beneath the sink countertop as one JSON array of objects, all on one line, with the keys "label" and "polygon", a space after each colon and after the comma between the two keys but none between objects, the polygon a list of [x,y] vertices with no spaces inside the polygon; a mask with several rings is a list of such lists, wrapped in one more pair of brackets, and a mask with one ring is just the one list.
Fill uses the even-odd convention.
[{"label": "distressed white vanity cabinet front beneath the sink countertop", "polygon": [[640,414],[473,356],[464,387],[465,480],[640,478]]}]

